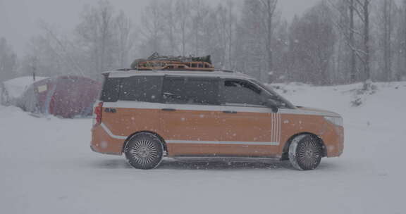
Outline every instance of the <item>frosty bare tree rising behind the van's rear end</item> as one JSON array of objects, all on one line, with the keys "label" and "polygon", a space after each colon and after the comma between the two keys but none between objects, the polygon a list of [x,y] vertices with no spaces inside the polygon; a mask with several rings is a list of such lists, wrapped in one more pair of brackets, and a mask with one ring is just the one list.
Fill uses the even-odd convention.
[{"label": "frosty bare tree rising behind the van's rear end", "polygon": [[100,78],[99,73],[128,67],[133,48],[132,26],[123,11],[116,12],[109,1],[86,6],[76,27],[76,55],[86,75]]}]

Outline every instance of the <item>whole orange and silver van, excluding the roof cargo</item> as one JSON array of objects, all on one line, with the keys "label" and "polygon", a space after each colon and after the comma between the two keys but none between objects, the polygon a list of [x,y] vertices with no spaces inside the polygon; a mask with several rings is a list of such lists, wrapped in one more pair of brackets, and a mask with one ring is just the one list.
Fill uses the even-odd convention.
[{"label": "whole orange and silver van, excluding the roof cargo", "polygon": [[229,71],[104,73],[91,148],[152,169],[164,156],[290,160],[313,170],[343,153],[343,118],[293,106],[254,78]]}]

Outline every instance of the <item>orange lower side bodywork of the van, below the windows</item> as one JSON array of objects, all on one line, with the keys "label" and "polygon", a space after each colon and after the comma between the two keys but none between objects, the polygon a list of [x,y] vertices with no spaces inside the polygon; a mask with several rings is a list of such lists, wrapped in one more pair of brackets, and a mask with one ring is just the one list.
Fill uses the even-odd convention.
[{"label": "orange lower side bodywork of the van, below the windows", "polygon": [[[105,109],[112,108],[111,106],[116,109],[116,113],[105,112]],[[328,157],[340,156],[343,153],[343,127],[326,122],[321,115],[162,111],[161,108],[116,106],[119,104],[107,103],[103,108],[103,124],[113,136],[121,136],[122,139],[114,139],[101,127],[92,130],[92,145],[101,144],[102,141],[109,142],[109,146],[102,149],[102,153],[121,153],[125,139],[140,131],[159,134],[166,141],[168,156],[278,157],[283,153],[283,147],[290,137],[300,133],[319,136],[324,141]],[[114,146],[110,146],[110,141]],[[202,144],[199,144],[199,141],[202,141]],[[271,145],[262,145],[264,142]]]}]

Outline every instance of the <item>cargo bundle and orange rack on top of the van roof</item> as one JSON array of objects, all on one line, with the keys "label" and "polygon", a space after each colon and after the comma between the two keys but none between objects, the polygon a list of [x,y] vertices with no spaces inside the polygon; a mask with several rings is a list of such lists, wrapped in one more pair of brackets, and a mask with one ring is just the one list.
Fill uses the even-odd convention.
[{"label": "cargo bundle and orange rack on top of the van roof", "polygon": [[152,54],[147,59],[136,59],[131,64],[131,68],[136,70],[214,71],[210,56],[160,56],[158,53]]}]

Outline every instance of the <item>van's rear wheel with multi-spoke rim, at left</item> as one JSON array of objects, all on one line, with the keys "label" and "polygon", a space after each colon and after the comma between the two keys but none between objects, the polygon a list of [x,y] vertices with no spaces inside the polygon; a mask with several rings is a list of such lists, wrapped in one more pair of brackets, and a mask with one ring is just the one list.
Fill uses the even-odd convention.
[{"label": "van's rear wheel with multi-spoke rim, at left", "polygon": [[150,170],[161,163],[164,146],[159,137],[154,134],[139,133],[128,140],[124,153],[133,168]]}]

